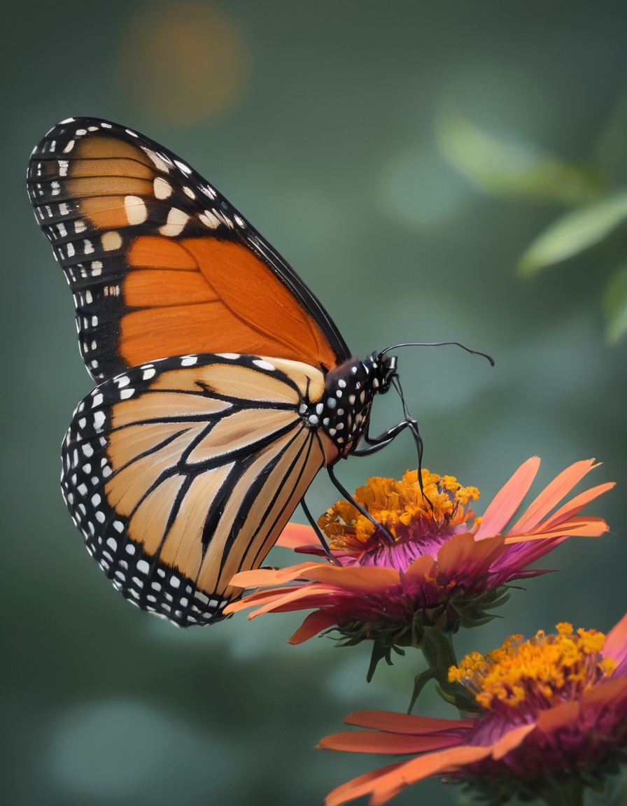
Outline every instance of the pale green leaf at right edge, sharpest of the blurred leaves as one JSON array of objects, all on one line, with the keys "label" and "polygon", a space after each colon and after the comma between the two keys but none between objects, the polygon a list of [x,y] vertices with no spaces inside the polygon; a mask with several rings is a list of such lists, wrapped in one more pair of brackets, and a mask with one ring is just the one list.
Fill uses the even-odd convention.
[{"label": "pale green leaf at right edge, sharpest of the blurred leaves", "polygon": [[594,246],[627,218],[627,191],[560,216],[527,248],[518,271],[530,276]]}]

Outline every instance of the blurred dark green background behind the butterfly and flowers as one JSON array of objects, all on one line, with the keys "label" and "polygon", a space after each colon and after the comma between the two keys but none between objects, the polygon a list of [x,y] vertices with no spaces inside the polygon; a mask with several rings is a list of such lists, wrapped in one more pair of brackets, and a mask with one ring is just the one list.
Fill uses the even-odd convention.
[{"label": "blurred dark green background behind the butterfly and flowers", "polygon": [[[558,573],[513,592],[505,618],[459,650],[617,621],[624,2],[65,0],[2,17],[3,803],[322,804],[383,759],[315,743],[352,710],[404,710],[421,670],[412,656],[367,684],[365,644],[287,646],[291,614],[183,632],[127,605],[89,559],[58,476],[90,383],[24,181],[31,148],[71,115],[125,123],[193,164],[297,268],[355,353],[441,339],[491,353],[493,369],[454,347],[400,359],[426,467],[476,484],[479,512],[534,454],[540,485],[591,456],[603,462],[591,485],[617,481],[589,508],[612,532],[561,546],[542,563]],[[376,401],[375,427],[399,415],[394,396]],[[338,474],[354,488],[413,460],[399,438]],[[321,478],[309,504],[335,498]],[[421,710],[450,713],[432,692]],[[458,796],[428,782],[395,802]],[[615,784],[594,802],[619,797]]]}]

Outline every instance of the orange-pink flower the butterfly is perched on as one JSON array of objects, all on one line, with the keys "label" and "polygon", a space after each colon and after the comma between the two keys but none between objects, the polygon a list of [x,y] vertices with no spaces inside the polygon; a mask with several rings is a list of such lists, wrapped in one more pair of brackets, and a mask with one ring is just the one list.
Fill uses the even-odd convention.
[{"label": "orange-pink flower the butterfly is perched on", "polygon": [[319,544],[302,545],[315,539],[314,530],[289,525],[279,545],[317,555],[318,561],[236,574],[233,584],[258,590],[228,605],[225,612],[256,607],[252,618],[314,609],[291,643],[336,628],[345,642],[375,642],[371,674],[378,659],[389,661],[392,647],[420,646],[430,667],[443,668],[446,676],[455,656],[446,646],[448,638],[442,641],[442,636],[450,637],[459,625],[488,621],[488,609],[507,598],[505,586],[545,573],[530,569],[529,563],[568,536],[596,537],[608,530],[602,518],[579,512],[611,483],[559,506],[596,467],[593,459],[567,467],[510,526],[539,464],[538,458],[528,459],[478,518],[470,505],[479,491],[462,487],[453,476],[423,469],[422,485],[415,471],[400,482],[371,479],[357,490],[355,499],[381,529],[348,502],[338,502],[319,521],[330,538],[330,551],[338,563],[334,565]]}]

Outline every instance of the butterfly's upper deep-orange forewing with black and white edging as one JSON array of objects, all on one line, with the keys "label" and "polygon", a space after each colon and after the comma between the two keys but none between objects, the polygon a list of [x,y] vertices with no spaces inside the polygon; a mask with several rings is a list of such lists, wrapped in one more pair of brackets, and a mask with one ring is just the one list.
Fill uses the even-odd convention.
[{"label": "butterfly's upper deep-orange forewing with black and white edging", "polygon": [[274,355],[324,369],[350,357],[276,251],[143,135],[97,118],[59,123],[33,152],[28,187],[72,289],[94,380],[188,352]]}]

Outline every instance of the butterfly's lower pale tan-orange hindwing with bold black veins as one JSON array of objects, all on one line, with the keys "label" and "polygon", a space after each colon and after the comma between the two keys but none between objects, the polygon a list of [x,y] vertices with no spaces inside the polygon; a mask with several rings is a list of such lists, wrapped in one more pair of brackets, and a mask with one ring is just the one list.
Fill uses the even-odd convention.
[{"label": "butterfly's lower pale tan-orange hindwing with bold black veins", "polygon": [[[272,361],[272,364],[271,364]],[[62,488],[85,544],[127,599],[210,623],[323,464],[308,425],[322,372],[254,355],[183,355],[106,380],[78,405]]]}]

